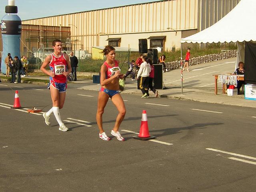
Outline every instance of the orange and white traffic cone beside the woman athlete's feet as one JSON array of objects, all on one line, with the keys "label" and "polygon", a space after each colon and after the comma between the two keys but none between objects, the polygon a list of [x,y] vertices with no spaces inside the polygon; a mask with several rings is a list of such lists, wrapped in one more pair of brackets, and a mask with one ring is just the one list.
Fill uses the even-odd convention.
[{"label": "orange and white traffic cone beside the woman athlete's feet", "polygon": [[143,110],[142,112],[142,118],[141,118],[141,124],[140,124],[140,134],[134,139],[139,140],[150,140],[155,139],[155,136],[150,136],[149,130],[148,130],[148,118],[147,118],[147,112],[146,110]]}]

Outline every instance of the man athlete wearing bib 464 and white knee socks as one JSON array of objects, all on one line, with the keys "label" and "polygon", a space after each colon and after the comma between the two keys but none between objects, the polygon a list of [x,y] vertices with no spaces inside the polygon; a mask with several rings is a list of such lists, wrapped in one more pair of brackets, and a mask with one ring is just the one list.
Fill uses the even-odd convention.
[{"label": "man athlete wearing bib 464 and white knee socks", "polygon": [[[59,130],[68,131],[68,128],[60,118],[59,109],[63,107],[65,102],[67,76],[71,72],[71,66],[68,55],[62,53],[62,42],[56,39],[52,42],[52,47],[54,52],[45,58],[40,68],[42,72],[50,76],[48,89],[50,89],[52,97],[52,108],[48,112],[43,113],[43,117],[45,123],[50,125],[50,114],[53,112],[60,125]],[[48,65],[50,66],[50,71],[46,70]]]}]

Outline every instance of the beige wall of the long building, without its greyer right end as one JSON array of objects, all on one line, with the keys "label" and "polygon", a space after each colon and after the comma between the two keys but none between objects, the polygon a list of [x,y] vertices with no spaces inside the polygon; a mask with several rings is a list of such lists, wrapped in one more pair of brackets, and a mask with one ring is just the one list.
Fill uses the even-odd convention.
[{"label": "beige wall of the long building, without its greyer right end", "polygon": [[70,26],[76,49],[89,52],[92,46],[108,44],[107,36],[119,37],[120,46],[131,48],[138,48],[140,38],[166,36],[167,50],[180,46],[182,30],[197,29],[197,8],[198,0],[163,0],[24,20],[22,24]]}]

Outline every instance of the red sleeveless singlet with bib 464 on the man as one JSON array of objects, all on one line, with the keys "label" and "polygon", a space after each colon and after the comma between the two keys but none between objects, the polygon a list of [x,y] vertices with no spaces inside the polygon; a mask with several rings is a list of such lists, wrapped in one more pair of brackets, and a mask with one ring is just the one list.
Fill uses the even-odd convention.
[{"label": "red sleeveless singlet with bib 464 on the man", "polygon": [[50,77],[50,80],[53,80],[54,82],[57,83],[66,83],[67,82],[67,77],[64,76],[63,72],[67,71],[67,61],[66,58],[64,57],[63,53],[61,53],[61,56],[56,57],[53,53],[52,55],[52,60],[49,64],[50,70],[54,72],[55,76]]}]

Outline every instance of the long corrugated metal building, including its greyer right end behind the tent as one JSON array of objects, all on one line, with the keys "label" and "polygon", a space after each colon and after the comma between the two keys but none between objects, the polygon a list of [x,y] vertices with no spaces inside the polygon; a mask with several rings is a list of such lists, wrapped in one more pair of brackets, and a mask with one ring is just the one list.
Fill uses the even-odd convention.
[{"label": "long corrugated metal building, including its greyer right end behind the tent", "polygon": [[[85,12],[24,20],[22,24],[70,27],[72,50],[92,51],[92,46],[138,49],[138,39],[148,48],[170,51],[180,39],[211,26],[240,0],[161,0]],[[22,31],[23,32],[23,31]]]}]

